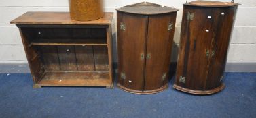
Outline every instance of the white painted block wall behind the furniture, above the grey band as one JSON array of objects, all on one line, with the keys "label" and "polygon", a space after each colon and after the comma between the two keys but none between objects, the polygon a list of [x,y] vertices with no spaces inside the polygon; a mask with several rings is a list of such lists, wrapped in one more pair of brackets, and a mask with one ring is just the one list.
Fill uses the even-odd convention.
[{"label": "white painted block wall behind the furniture, above the grey band", "polygon": [[[218,0],[220,1],[220,0]],[[229,0],[222,0],[229,1]],[[143,2],[141,0],[105,0],[105,11],[114,12],[113,38],[116,31],[115,9],[124,5]],[[175,44],[179,45],[179,32],[181,29],[181,14],[185,0],[148,0],[169,7],[180,9],[177,14],[175,28]],[[236,24],[227,61],[233,63],[256,63],[256,1],[235,0],[241,3],[238,7]],[[22,46],[18,28],[10,21],[26,13],[26,11],[69,11],[69,0],[0,0],[0,63],[26,63],[26,55]],[[114,61],[116,61],[116,45],[114,48]],[[172,51],[172,61],[177,59],[177,49]]]}]

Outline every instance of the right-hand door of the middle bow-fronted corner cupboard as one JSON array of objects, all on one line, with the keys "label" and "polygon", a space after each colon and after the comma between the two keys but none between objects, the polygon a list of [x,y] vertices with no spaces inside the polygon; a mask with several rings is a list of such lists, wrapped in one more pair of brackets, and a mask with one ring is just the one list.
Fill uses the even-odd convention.
[{"label": "right-hand door of the middle bow-fronted corner cupboard", "polygon": [[149,16],[144,90],[168,84],[175,16],[176,13]]}]

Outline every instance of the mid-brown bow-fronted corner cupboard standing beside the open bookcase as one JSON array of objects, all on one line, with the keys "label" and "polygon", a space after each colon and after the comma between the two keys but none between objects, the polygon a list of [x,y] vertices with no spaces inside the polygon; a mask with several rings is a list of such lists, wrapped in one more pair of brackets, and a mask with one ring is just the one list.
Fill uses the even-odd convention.
[{"label": "mid-brown bow-fronted corner cupboard standing beside the open bookcase", "polygon": [[[155,9],[151,14],[134,10],[147,11],[152,7]],[[177,9],[161,8],[152,3],[139,3],[117,9],[117,86],[126,92],[154,94],[168,88]],[[166,9],[172,10],[162,11]]]}]

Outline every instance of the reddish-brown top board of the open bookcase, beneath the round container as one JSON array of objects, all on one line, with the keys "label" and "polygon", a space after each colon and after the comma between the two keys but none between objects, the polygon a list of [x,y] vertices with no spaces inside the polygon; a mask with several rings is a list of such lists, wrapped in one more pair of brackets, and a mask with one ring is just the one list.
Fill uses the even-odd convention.
[{"label": "reddish-brown top board of the open bookcase, beneath the round container", "polygon": [[103,18],[92,21],[71,20],[69,12],[26,12],[12,20],[11,24],[88,24],[110,25],[113,13],[105,13]]}]

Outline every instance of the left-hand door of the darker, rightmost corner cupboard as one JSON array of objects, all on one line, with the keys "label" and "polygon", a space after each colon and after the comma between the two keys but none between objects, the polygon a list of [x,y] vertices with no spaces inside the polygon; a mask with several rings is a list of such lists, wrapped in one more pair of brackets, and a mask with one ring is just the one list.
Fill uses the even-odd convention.
[{"label": "left-hand door of the darker, rightmost corner cupboard", "polygon": [[193,90],[204,90],[213,40],[215,9],[184,8],[185,19],[181,27],[175,84]]}]

